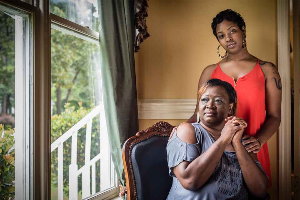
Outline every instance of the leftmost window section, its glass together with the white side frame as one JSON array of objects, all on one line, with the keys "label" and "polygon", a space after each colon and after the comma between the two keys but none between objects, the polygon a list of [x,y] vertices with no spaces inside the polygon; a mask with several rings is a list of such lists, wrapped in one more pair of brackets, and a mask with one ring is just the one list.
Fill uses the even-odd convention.
[{"label": "leftmost window section, its glass together with the white side frame", "polygon": [[0,4],[1,199],[27,199],[31,191],[29,24],[28,15]]}]

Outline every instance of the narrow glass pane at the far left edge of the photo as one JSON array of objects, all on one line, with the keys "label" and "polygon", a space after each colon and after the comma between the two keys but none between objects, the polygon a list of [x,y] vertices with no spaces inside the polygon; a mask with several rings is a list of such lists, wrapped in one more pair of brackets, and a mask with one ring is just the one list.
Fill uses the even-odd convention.
[{"label": "narrow glass pane at the far left edge of the photo", "polygon": [[[15,19],[14,15],[8,15],[0,11],[0,133],[5,130],[4,136],[0,138],[0,168],[8,167],[8,172],[3,176],[9,176],[8,184],[1,187],[2,191],[12,191],[15,189],[13,181],[15,181],[15,164],[8,162],[6,158],[15,158],[14,135],[15,128]],[[4,30],[7,31],[4,31]],[[7,140],[7,142],[4,142]],[[3,142],[2,142],[3,141]],[[6,150],[8,147],[8,150]],[[4,161],[4,164],[2,162]],[[1,176],[2,177],[2,176]],[[0,178],[0,182],[4,181]],[[0,195],[3,192],[0,192]],[[14,192],[9,192],[7,197],[14,197]]]}]

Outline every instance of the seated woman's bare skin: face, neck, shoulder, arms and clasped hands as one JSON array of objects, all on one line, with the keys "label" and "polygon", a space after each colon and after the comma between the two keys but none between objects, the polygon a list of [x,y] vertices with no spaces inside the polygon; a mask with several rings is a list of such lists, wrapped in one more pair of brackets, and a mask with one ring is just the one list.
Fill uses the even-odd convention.
[{"label": "seated woman's bare skin: face, neck, shoulder, arms and clasped hands", "polygon": [[[235,151],[247,188],[252,195],[264,197],[267,192],[267,176],[254,162],[257,160],[256,154],[248,153],[242,145],[242,133],[247,123],[235,116],[227,119],[232,104],[222,86],[207,88],[198,106],[200,124],[217,140],[191,163],[179,163],[173,168],[173,172],[185,189],[196,190],[212,175],[223,151]],[[176,133],[183,142],[197,143],[195,128],[190,123],[179,125]]]}]

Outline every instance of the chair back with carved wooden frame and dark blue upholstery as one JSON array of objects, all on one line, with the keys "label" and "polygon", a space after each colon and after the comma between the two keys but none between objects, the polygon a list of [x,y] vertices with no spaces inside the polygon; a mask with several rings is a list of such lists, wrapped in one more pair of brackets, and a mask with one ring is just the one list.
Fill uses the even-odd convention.
[{"label": "chair back with carved wooden frame and dark blue upholstery", "polygon": [[167,198],[173,178],[169,176],[166,146],[173,128],[169,123],[158,122],[124,143],[128,200]]}]

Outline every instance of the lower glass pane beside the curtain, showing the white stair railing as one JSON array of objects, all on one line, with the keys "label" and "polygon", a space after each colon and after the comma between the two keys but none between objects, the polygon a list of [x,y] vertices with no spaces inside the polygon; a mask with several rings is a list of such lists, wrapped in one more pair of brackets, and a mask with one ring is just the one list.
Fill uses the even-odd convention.
[{"label": "lower glass pane beside the curtain, showing the white stair railing", "polygon": [[82,199],[116,186],[101,92],[99,41],[51,30],[51,199]]}]

